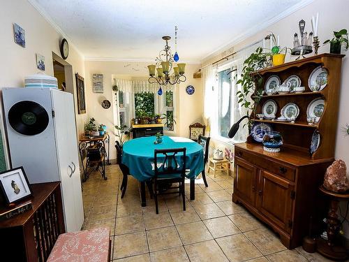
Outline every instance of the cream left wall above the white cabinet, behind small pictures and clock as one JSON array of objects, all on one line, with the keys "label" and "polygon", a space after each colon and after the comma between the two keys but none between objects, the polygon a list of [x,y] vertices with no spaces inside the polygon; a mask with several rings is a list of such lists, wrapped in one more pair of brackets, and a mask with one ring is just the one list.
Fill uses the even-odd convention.
[{"label": "cream left wall above the white cabinet, behind small pictures and clock", "polygon": [[[25,30],[25,48],[14,42],[13,23]],[[60,55],[59,43],[62,36],[27,0],[1,1],[0,31],[0,88],[24,87],[24,77],[39,71],[36,68],[36,53],[45,56],[45,73],[53,76],[52,52]],[[73,73],[78,72],[84,76],[84,59],[72,45],[66,61],[73,67]],[[73,89],[76,90],[75,76]],[[1,103],[0,100],[2,108]],[[87,114],[76,115],[79,132],[84,128],[86,116]],[[0,128],[3,131],[2,119],[0,115]]]}]

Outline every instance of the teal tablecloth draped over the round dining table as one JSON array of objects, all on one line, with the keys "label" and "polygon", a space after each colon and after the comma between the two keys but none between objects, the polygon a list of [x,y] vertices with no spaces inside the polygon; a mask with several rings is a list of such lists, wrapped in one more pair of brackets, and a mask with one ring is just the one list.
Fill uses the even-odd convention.
[{"label": "teal tablecloth draped over the round dining table", "polygon": [[204,169],[203,148],[193,142],[174,142],[170,137],[164,136],[163,143],[154,144],[155,136],[135,138],[124,143],[122,163],[128,166],[130,175],[138,180],[147,181],[154,177],[154,150],[186,147],[186,169],[190,169],[188,178],[197,177]]}]

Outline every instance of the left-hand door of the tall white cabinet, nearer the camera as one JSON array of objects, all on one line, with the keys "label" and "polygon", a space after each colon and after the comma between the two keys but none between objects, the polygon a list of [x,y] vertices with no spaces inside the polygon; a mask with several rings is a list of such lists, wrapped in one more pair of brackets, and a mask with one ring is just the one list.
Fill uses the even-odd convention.
[{"label": "left-hand door of the tall white cabinet, nearer the camera", "polygon": [[54,110],[54,133],[56,140],[57,159],[61,178],[62,202],[66,231],[77,231],[74,206],[74,189],[71,176],[73,167],[70,163],[68,129],[71,128],[66,117],[66,93],[52,90],[52,108]]}]

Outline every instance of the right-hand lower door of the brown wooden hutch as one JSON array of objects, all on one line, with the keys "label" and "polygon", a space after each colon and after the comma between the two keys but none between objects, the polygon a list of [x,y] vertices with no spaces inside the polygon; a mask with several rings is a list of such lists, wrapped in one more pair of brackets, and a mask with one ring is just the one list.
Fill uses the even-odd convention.
[{"label": "right-hand lower door of the brown wooden hutch", "polygon": [[292,228],[294,188],[288,180],[260,170],[257,209],[287,232]]}]

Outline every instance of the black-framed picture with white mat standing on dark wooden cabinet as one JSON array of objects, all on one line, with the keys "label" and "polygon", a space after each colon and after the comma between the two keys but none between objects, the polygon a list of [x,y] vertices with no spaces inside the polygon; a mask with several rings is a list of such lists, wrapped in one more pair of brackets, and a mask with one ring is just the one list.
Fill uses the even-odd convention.
[{"label": "black-framed picture with white mat standing on dark wooden cabinet", "polygon": [[0,186],[8,204],[20,201],[32,194],[27,175],[22,166],[1,172]]}]

